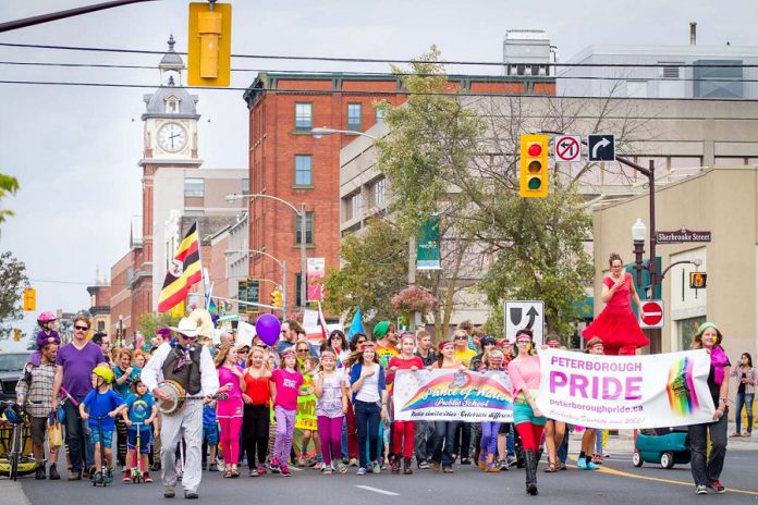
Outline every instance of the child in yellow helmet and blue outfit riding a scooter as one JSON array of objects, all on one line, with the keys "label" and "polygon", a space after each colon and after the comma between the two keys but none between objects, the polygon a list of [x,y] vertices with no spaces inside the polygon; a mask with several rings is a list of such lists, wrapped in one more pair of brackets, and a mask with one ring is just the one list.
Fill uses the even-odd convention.
[{"label": "child in yellow helmet and blue outfit riding a scooter", "polygon": [[[111,390],[113,371],[106,367],[95,367],[93,370],[93,391],[80,404],[80,415],[86,419],[93,432],[95,444],[95,473],[93,481],[109,483],[113,480],[113,454],[111,441],[115,430],[115,416],[125,408],[124,401]],[[102,455],[105,454],[108,469],[102,473]]]}]

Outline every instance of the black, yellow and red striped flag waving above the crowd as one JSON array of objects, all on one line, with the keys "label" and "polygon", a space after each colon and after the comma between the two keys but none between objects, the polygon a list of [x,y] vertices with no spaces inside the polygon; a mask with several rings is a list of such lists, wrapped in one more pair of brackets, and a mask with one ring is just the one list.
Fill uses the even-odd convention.
[{"label": "black, yellow and red striped flag waving above the crowd", "polygon": [[158,297],[158,311],[166,312],[184,301],[190,287],[201,279],[200,241],[197,235],[197,222],[195,222],[179,245],[176,256],[169,263],[163,288]]}]

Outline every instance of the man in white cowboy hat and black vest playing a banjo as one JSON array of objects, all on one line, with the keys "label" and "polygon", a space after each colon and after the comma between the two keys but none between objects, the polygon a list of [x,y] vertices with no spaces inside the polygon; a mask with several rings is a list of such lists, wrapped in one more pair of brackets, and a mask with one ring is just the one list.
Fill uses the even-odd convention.
[{"label": "man in white cowboy hat and black vest playing a banjo", "polygon": [[[170,399],[170,395],[158,384],[162,381],[175,381],[186,392],[186,395],[207,396],[205,402],[219,390],[219,378],[213,367],[210,352],[204,345],[195,342],[200,332],[198,321],[194,318],[183,318],[179,327],[171,328],[176,336],[158,347],[152,358],[143,369],[142,380],[152,392],[158,404]],[[186,402],[176,411],[163,414],[160,428],[162,464],[161,479],[163,496],[173,497],[176,485],[176,469],[174,467],[174,449],[182,440],[186,442],[186,454],[182,485],[185,498],[197,498],[197,488],[200,484],[200,447],[203,445],[203,404],[205,402]]]}]

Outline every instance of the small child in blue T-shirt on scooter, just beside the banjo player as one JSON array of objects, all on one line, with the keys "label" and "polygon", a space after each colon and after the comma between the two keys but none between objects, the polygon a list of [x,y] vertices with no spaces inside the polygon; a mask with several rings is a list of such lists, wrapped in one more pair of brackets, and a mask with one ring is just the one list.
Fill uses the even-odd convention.
[{"label": "small child in blue T-shirt on scooter, just beside the banjo player", "polygon": [[[129,427],[126,436],[126,466],[134,464],[131,470],[124,471],[124,482],[131,482],[132,476],[142,479],[144,482],[152,482],[152,477],[148,471],[147,455],[150,452],[150,442],[152,441],[152,423],[158,415],[152,395],[147,391],[147,386],[142,380],[135,379],[132,383],[131,394],[126,398],[126,409],[122,411],[124,421]],[[139,465],[135,459],[135,449],[137,448],[137,431],[139,432]],[[142,470],[142,473],[140,473]],[[135,481],[136,481],[135,480]]]}]

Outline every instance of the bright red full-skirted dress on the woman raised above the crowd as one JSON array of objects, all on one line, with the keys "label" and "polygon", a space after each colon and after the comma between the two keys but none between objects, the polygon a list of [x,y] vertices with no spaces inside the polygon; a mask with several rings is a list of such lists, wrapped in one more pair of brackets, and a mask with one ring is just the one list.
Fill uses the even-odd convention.
[{"label": "bright red full-skirted dress on the woman raised above the crowd", "polygon": [[[600,316],[595,318],[595,321],[582,332],[585,340],[590,340],[594,336],[602,338],[607,355],[631,355],[639,347],[650,344],[632,311],[632,303],[629,301],[632,274],[624,273],[624,284],[613,293],[611,299],[606,304]],[[602,283],[611,288],[615,282],[608,276],[602,280]]]}]

